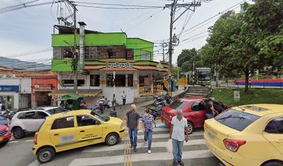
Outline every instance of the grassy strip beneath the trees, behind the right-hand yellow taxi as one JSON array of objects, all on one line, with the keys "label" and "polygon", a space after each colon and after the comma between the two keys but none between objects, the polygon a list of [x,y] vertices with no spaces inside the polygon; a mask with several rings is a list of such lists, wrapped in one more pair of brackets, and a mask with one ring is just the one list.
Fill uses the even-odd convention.
[{"label": "grassy strip beneath the trees, behind the right-hand yellow taxi", "polygon": [[232,89],[213,89],[212,98],[221,100],[228,106],[244,104],[283,104],[283,89],[249,89],[246,94],[244,89],[240,89],[240,101],[234,102]]}]

